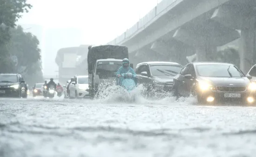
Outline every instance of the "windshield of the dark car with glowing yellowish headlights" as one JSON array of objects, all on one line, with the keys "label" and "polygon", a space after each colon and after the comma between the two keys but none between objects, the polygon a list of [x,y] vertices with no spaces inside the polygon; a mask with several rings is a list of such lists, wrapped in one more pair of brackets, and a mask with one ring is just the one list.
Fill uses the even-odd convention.
[{"label": "windshield of the dark car with glowing yellowish headlights", "polygon": [[243,74],[230,64],[201,64],[196,65],[199,76],[203,77],[244,77]]}]

